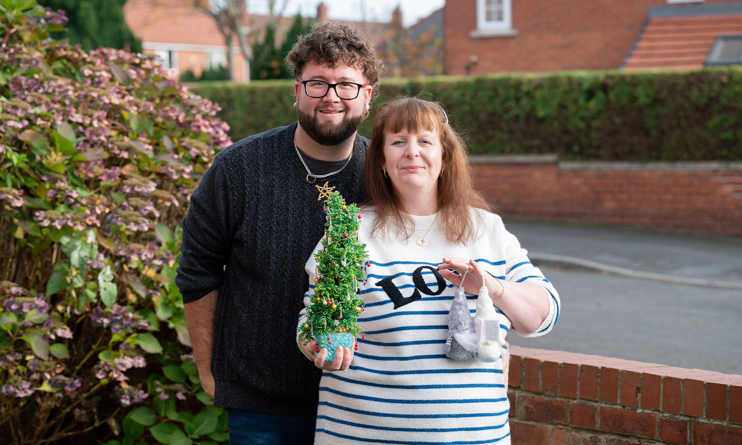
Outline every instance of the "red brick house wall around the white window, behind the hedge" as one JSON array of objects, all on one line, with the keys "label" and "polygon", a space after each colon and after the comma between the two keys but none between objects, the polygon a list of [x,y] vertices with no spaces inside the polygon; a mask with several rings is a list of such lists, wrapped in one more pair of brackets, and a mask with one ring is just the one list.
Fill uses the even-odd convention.
[{"label": "red brick house wall around the white window, behind the hedge", "polygon": [[[706,3],[733,3],[706,0]],[[512,37],[473,39],[476,0],[446,0],[445,73],[617,69],[647,19],[666,0],[512,0]],[[682,7],[682,5],[677,5]]]}]

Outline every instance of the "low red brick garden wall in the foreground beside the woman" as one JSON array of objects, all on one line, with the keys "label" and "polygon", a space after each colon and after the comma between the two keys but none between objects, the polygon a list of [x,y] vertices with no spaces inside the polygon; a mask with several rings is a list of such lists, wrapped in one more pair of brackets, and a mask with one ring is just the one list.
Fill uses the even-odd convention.
[{"label": "low red brick garden wall in the foreground beside the woman", "polygon": [[513,445],[742,444],[742,375],[510,351]]}]

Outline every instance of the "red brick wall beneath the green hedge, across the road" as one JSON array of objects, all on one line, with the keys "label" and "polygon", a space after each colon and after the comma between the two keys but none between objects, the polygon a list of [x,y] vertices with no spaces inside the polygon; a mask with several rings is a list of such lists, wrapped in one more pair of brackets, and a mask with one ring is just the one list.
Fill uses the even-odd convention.
[{"label": "red brick wall beneath the green hedge, across the road", "polygon": [[472,158],[499,214],[742,236],[742,164]]}]

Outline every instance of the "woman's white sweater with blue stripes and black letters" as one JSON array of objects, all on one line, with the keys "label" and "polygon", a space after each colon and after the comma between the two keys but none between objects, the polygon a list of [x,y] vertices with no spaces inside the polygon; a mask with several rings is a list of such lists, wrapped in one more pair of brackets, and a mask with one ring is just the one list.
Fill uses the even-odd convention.
[{"label": "woman's white sweater with blue stripes and black letters", "polygon": [[[428,245],[420,247],[412,239],[371,238],[373,213],[361,210],[358,237],[367,243],[370,262],[361,286],[366,309],[358,317],[365,340],[358,338],[348,372],[322,375],[315,444],[510,444],[502,360],[457,361],[444,355],[456,288],[436,266],[443,257],[473,258],[501,280],[542,286],[551,295],[550,312],[536,332],[516,332],[524,337],[551,330],[559,296],[500,217],[482,215],[486,231],[467,247],[448,242],[437,227],[427,235]],[[413,217],[417,233],[424,234],[434,218]],[[306,271],[314,283],[313,255]],[[467,300],[474,314],[476,295]],[[302,311],[300,324],[304,317]],[[502,315],[501,322],[505,335],[510,321]]]}]

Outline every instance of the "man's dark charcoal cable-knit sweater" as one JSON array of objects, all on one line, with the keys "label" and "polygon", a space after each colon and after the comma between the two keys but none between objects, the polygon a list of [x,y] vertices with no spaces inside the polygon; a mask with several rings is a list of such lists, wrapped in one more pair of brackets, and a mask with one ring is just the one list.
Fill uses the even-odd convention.
[{"label": "man's dark charcoal cable-knit sweater", "polygon": [[217,154],[183,219],[175,283],[184,303],[220,289],[215,406],[314,418],[321,371],[297,348],[296,323],[309,288],[304,264],[324,233],[315,185],[327,181],[347,202],[361,200],[368,139],[355,137],[341,173],[309,184],[294,149],[296,126]]}]

